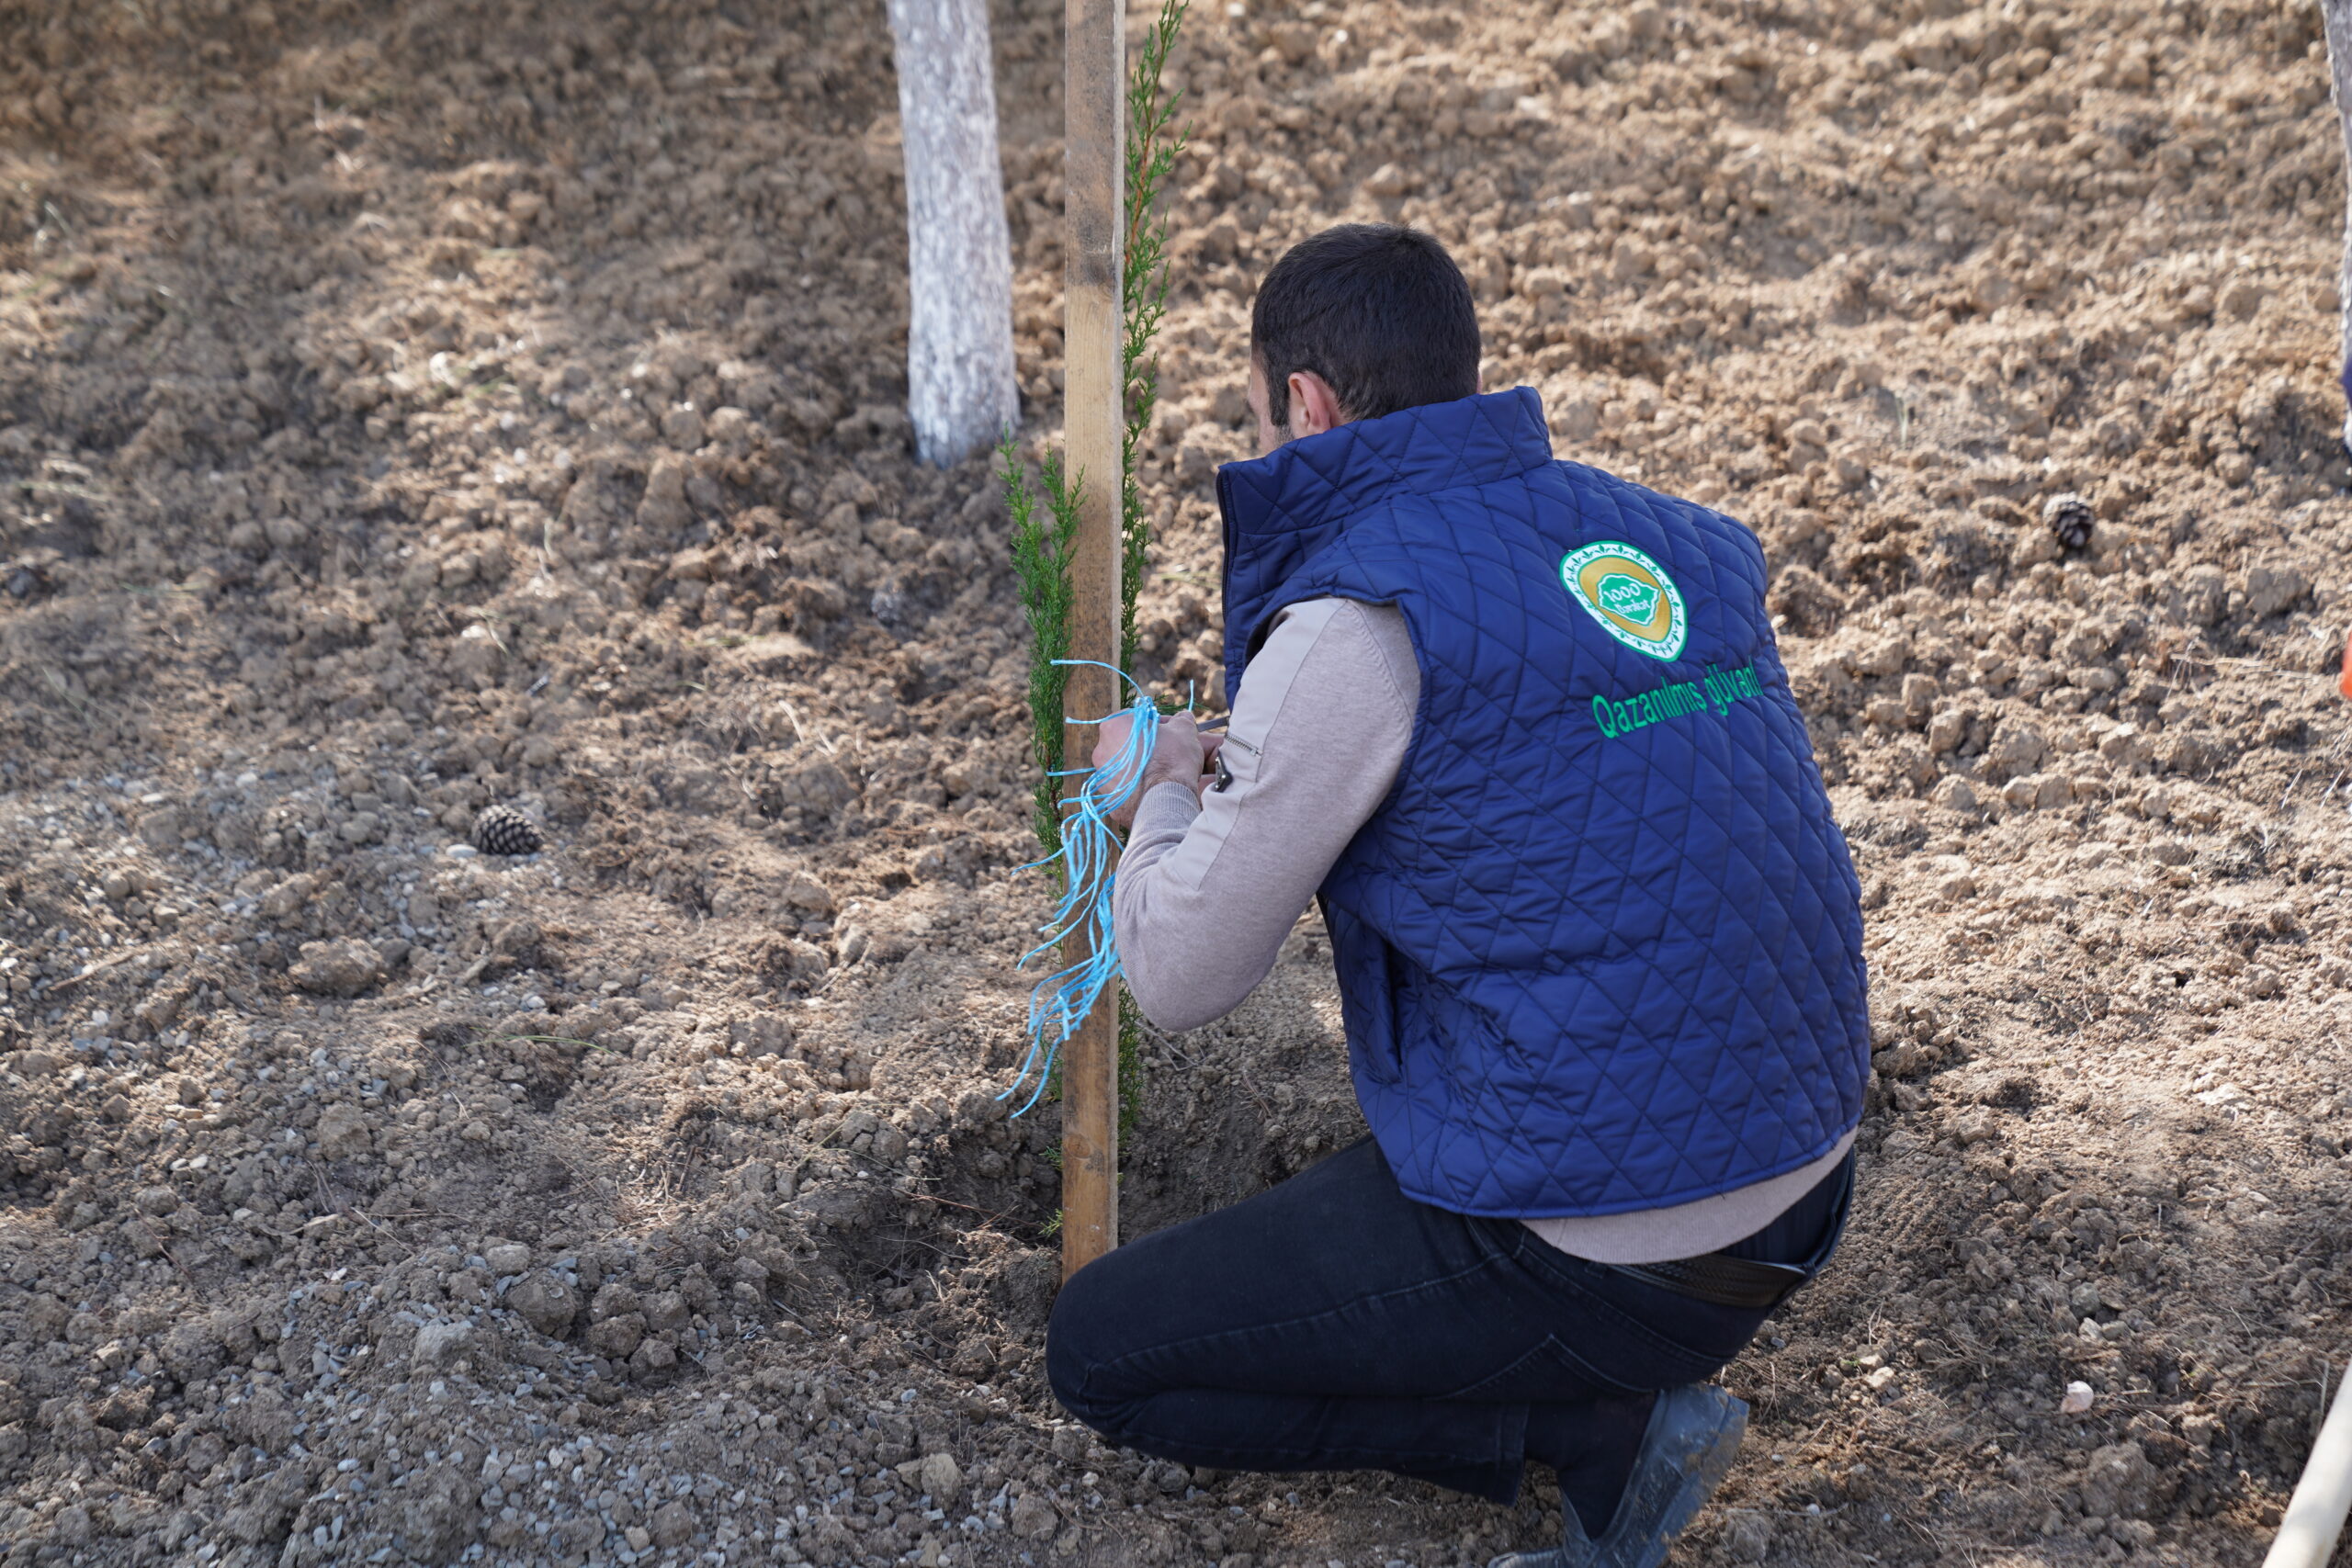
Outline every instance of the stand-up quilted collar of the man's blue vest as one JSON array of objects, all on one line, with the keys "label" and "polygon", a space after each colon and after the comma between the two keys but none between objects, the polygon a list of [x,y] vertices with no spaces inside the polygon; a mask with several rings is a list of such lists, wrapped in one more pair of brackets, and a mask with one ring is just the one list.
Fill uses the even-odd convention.
[{"label": "stand-up quilted collar of the man's blue vest", "polygon": [[1550,461],[1531,386],[1359,418],[1216,470],[1225,555],[1256,534],[1317,531],[1392,496],[1512,480]]}]

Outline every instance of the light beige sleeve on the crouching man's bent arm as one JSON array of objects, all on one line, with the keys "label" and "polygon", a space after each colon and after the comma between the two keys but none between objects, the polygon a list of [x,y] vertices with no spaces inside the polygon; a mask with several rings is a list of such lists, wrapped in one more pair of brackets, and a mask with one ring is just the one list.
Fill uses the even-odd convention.
[{"label": "light beige sleeve on the crouching man's bent arm", "polygon": [[1275,966],[1414,738],[1421,670],[1392,604],[1308,599],[1282,611],[1242,675],[1225,729],[1232,783],[1152,788],[1120,858],[1112,924],[1143,1016],[1192,1030]]}]

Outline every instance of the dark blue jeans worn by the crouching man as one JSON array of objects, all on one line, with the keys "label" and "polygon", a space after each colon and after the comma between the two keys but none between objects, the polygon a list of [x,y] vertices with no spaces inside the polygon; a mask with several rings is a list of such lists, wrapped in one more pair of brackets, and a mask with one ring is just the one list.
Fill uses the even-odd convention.
[{"label": "dark blue jeans worn by the crouching man", "polygon": [[[1726,1251],[1820,1267],[1849,1194],[1851,1164]],[[1569,1258],[1517,1220],[1416,1204],[1367,1138],[1080,1269],[1047,1375],[1082,1422],[1164,1460],[1388,1469],[1508,1505],[1531,1427],[1646,1410],[1766,1316]],[[1592,1425],[1623,1448],[1597,1458],[1623,1479],[1639,1420]]]}]

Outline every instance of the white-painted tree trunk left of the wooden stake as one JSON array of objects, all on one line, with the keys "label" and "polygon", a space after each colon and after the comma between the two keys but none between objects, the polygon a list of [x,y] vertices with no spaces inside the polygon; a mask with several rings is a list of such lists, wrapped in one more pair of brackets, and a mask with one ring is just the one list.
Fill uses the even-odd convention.
[{"label": "white-painted tree trunk left of the wooden stake", "polygon": [[889,0],[906,139],[908,418],[946,468],[1021,421],[988,0]]}]

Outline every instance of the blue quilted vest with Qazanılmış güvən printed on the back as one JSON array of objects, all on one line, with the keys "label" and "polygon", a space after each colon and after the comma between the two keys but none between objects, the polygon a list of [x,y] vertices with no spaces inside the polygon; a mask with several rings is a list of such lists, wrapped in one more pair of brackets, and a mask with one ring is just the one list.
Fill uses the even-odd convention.
[{"label": "blue quilted vest with Qazan\u0131lm\u0131\u015f g\u00fcv\u0259n printed on the back", "polygon": [[1322,886],[1404,1192],[1604,1215],[1828,1154],[1870,1074],[1860,889],[1748,529],[1552,461],[1529,388],[1218,470],[1225,689],[1275,611],[1397,604],[1421,710]]}]

